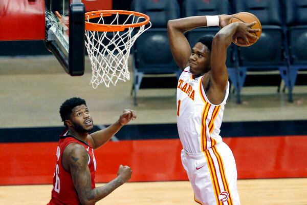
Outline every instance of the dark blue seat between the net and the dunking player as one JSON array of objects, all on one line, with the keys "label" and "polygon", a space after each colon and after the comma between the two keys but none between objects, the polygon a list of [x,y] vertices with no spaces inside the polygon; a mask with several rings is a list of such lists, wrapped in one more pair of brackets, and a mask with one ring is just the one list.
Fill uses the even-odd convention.
[{"label": "dark blue seat between the net and the dunking player", "polygon": [[134,0],[131,10],[147,14],[152,24],[134,46],[133,91],[137,105],[137,93],[144,74],[176,73],[179,76],[180,70],[173,60],[168,43],[167,21],[180,18],[180,7],[177,0]]}]

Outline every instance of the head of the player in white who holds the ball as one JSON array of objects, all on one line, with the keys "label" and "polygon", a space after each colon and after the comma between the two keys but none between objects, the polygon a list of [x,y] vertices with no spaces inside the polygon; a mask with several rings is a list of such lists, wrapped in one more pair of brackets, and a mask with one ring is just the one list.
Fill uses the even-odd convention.
[{"label": "head of the player in white who holds the ball", "polygon": [[203,74],[210,70],[212,41],[212,36],[201,37],[192,48],[189,59],[190,71],[192,74]]}]

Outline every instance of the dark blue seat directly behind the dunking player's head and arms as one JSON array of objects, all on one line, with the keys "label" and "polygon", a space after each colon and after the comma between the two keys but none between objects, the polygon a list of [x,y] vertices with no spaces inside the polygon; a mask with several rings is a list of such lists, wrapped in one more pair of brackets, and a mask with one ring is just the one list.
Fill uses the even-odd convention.
[{"label": "dark blue seat directly behind the dunking player's head and arms", "polygon": [[[218,14],[230,14],[231,7],[228,0],[186,0],[183,3],[183,17],[188,16],[199,16],[199,15],[218,15]],[[197,28],[187,32],[187,38],[189,40],[190,46],[193,47],[197,40],[202,36],[214,36],[220,28],[209,27],[209,28]],[[237,69],[235,65],[237,63],[237,46],[231,45],[227,51],[226,66],[228,69],[228,74],[231,83],[234,85],[236,90],[238,86],[237,81]]]}]

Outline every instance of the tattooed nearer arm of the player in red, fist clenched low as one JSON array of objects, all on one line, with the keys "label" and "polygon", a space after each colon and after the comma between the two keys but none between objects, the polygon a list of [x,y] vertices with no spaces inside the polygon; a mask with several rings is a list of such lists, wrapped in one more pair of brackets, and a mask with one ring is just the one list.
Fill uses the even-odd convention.
[{"label": "tattooed nearer arm of the player in red, fist clenched low", "polygon": [[130,179],[131,169],[121,165],[118,170],[118,176],[114,180],[104,186],[92,189],[91,172],[87,166],[89,155],[82,145],[74,144],[69,146],[67,148],[70,150],[65,158],[68,160],[72,179],[82,204],[94,204]]}]

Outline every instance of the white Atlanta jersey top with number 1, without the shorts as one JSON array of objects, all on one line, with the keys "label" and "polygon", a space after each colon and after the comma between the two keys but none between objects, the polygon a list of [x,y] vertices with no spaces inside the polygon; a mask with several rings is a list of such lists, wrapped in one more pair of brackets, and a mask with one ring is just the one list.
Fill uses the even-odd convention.
[{"label": "white Atlanta jersey top with number 1, without the shorts", "polygon": [[188,153],[201,153],[222,141],[220,128],[229,93],[220,105],[209,102],[202,80],[193,79],[190,67],[184,69],[177,86],[177,127],[183,149]]}]

